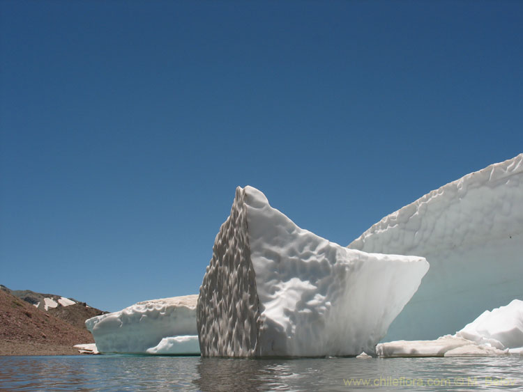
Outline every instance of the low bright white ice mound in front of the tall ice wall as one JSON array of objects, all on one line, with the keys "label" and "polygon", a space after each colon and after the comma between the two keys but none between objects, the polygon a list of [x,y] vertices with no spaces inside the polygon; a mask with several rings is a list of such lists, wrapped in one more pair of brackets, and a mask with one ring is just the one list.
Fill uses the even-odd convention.
[{"label": "low bright white ice mound in front of the tall ice wall", "polygon": [[523,301],[483,312],[455,335],[437,340],[380,343],[376,353],[394,356],[492,356],[523,354]]}]

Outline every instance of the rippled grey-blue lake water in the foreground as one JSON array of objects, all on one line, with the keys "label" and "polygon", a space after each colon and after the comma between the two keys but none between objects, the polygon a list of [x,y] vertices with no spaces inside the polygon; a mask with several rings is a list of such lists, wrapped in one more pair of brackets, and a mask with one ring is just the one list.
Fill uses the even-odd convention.
[{"label": "rippled grey-blue lake water in the foreground", "polygon": [[[358,383],[359,386],[355,385]],[[415,359],[0,356],[0,389],[523,391],[523,356]]]}]

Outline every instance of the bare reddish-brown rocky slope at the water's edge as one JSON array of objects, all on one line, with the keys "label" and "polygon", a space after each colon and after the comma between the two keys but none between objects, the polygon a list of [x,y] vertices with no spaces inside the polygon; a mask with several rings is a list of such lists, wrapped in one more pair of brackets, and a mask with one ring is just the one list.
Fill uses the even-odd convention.
[{"label": "bare reddish-brown rocky slope at the water's edge", "polygon": [[0,290],[0,355],[78,354],[73,345],[93,336]]}]

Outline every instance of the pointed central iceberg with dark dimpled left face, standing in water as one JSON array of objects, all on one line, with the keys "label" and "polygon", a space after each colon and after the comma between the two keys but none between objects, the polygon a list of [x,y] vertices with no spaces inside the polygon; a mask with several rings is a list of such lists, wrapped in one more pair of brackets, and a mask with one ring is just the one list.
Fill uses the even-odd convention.
[{"label": "pointed central iceberg with dark dimpled left face, standing in water", "polygon": [[329,242],[238,187],[199,290],[202,356],[374,353],[428,268]]}]

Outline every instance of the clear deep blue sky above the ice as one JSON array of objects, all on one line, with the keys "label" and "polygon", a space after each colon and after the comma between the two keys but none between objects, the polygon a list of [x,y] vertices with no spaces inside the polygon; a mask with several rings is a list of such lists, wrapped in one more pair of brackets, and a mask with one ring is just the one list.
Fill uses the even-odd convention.
[{"label": "clear deep blue sky above the ice", "polygon": [[347,245],[523,152],[522,1],[0,1],[0,283],[196,294],[236,186]]}]

